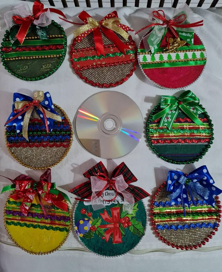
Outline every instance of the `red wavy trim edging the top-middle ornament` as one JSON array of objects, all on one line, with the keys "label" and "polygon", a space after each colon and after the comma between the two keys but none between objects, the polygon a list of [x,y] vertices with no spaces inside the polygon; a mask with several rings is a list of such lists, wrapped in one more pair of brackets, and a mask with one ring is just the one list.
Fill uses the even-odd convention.
[{"label": "red wavy trim edging the top-middle ornament", "polygon": [[[130,41],[130,44],[134,46],[134,50],[135,50],[135,55],[137,54],[137,47],[136,47],[136,44],[134,42],[134,40],[132,40],[132,36],[129,36],[129,41]],[[73,40],[73,44],[71,45],[71,50],[70,50],[70,56],[72,57],[72,49],[73,47],[75,46],[76,42],[75,42],[75,39]],[[105,47],[105,46],[104,46]],[[110,46],[112,47],[112,45]],[[94,49],[94,47],[89,47],[89,49]],[[78,49],[77,49],[78,50]],[[81,50],[81,49],[80,49]],[[127,81],[129,79],[129,77],[132,76],[133,72],[136,70],[136,65],[137,65],[137,58],[135,58],[134,60],[134,64],[133,64],[133,68],[132,70],[130,71],[129,74],[126,75],[125,78],[122,78],[121,81],[116,81],[115,83],[110,83],[110,84],[106,84],[106,83],[103,83],[103,84],[100,84],[100,83],[95,83],[91,80],[89,80],[87,77],[84,77],[79,71],[77,71],[75,69],[76,65],[75,63],[72,61],[72,59],[70,59],[71,63],[72,63],[72,68],[74,69],[75,73],[82,79],[84,80],[87,84],[90,84],[94,87],[100,87],[100,88],[110,88],[110,87],[116,87],[122,83],[124,83],[125,81]],[[117,65],[117,64],[116,64]],[[110,65],[111,66],[111,65]],[[102,67],[101,65],[99,67]],[[104,66],[105,67],[105,66]],[[96,67],[95,67],[96,68]],[[80,70],[80,69],[79,69]]]}]

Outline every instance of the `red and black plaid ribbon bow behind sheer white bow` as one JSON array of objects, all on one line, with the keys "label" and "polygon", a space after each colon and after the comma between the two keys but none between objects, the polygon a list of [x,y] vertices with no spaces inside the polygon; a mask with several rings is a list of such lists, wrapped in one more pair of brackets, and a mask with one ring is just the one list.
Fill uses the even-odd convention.
[{"label": "red and black plaid ribbon bow behind sheer white bow", "polygon": [[[92,176],[97,176],[98,173],[103,173],[106,176],[108,176],[108,171],[101,161],[83,174],[84,177],[88,178],[89,180],[87,180],[84,183],[81,183],[80,185],[77,185],[73,189],[69,190],[69,192],[74,195],[77,195],[81,199],[91,200],[91,196],[92,196],[93,192],[92,192],[90,178]],[[143,198],[146,198],[150,195],[142,188],[137,187],[135,185],[130,185],[130,183],[136,182],[137,178],[133,175],[133,173],[129,170],[129,168],[125,165],[124,162],[122,162],[122,163],[120,163],[120,165],[116,166],[116,168],[113,170],[113,172],[111,174],[111,179],[116,178],[120,175],[123,176],[125,182],[128,184],[128,187],[125,188],[125,191],[127,191],[128,193],[130,193],[134,197],[135,202],[137,202]],[[121,194],[121,193],[119,193],[119,194]]]}]

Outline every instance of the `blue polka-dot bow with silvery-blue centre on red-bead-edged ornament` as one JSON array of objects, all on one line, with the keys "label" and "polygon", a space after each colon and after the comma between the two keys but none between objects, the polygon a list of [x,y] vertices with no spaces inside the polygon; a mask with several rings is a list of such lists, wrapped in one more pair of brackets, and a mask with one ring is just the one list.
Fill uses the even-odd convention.
[{"label": "blue polka-dot bow with silvery-blue centre on red-bead-edged ornament", "polygon": [[171,192],[168,195],[171,204],[182,204],[184,216],[186,216],[185,206],[190,207],[188,193],[195,206],[197,206],[195,199],[201,198],[208,205],[214,207],[215,196],[222,192],[222,190],[213,185],[214,180],[205,165],[189,174],[184,174],[180,171],[169,171],[166,183],[166,190]]}]

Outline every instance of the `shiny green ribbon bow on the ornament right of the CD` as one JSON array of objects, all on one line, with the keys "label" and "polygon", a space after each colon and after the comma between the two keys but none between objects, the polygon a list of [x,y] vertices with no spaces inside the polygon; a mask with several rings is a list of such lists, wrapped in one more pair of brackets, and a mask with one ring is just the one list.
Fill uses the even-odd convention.
[{"label": "shiny green ribbon bow on the ornament right of the CD", "polygon": [[199,103],[199,98],[190,90],[185,91],[178,98],[176,96],[162,96],[160,108],[163,110],[154,114],[152,119],[156,120],[162,117],[159,127],[166,126],[171,130],[179,109],[181,109],[197,125],[204,126],[198,115],[205,110],[198,106]]}]

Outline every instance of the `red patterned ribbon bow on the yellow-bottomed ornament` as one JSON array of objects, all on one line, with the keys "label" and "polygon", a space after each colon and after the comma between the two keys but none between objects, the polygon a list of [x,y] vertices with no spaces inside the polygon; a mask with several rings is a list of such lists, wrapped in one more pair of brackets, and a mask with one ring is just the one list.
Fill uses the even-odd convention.
[{"label": "red patterned ribbon bow on the yellow-bottomed ornament", "polygon": [[38,193],[38,198],[40,201],[40,205],[42,207],[43,213],[46,216],[46,211],[44,209],[43,203],[41,199],[44,201],[53,204],[59,209],[68,210],[68,204],[63,202],[64,197],[61,193],[54,195],[49,193],[49,190],[52,186],[51,183],[51,169],[47,169],[46,172],[40,176],[40,181],[36,182],[32,178],[26,175],[20,175],[14,180],[10,179],[12,183],[15,184],[15,193],[10,195],[12,199],[15,201],[23,198],[22,204],[20,206],[21,212],[27,216],[33,199],[35,197],[36,192]]}]

